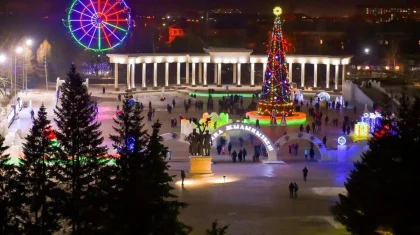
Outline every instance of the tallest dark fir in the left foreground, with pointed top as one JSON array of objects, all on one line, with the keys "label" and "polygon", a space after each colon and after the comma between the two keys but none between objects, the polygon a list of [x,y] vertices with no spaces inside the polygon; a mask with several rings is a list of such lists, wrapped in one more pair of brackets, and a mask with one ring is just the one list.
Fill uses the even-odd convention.
[{"label": "tallest dark fir in the left foreground, with pointed top", "polygon": [[60,174],[56,177],[67,193],[62,213],[72,234],[94,233],[97,228],[102,211],[98,208],[103,196],[101,171],[107,163],[101,124],[95,120],[97,106],[84,81],[72,65],[61,87],[61,107],[54,110],[60,144]]}]

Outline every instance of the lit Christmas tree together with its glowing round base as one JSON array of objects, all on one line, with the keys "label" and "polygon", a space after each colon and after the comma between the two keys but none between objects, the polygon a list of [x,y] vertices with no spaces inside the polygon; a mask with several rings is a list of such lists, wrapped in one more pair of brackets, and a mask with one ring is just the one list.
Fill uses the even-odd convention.
[{"label": "lit Christmas tree together with its glowing round base", "polygon": [[282,121],[284,115],[289,126],[306,123],[306,114],[294,110],[281,30],[281,13],[282,9],[280,7],[274,8],[276,17],[269,42],[268,60],[258,110],[246,114],[251,124],[255,124],[258,120],[260,125],[271,125],[273,110],[275,110],[277,123]]}]

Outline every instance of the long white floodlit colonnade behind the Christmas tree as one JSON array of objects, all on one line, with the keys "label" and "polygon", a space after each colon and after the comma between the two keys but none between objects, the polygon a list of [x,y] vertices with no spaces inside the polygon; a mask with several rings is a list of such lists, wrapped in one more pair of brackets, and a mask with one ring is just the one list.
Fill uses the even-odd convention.
[{"label": "long white floodlit colonnade behind the Christmas tree", "polygon": [[[207,77],[208,64],[214,64],[213,83],[222,86],[222,64],[231,64],[233,70],[232,84],[238,87],[242,86],[241,82],[241,66],[250,65],[250,84],[255,86],[255,64],[263,64],[263,73],[266,68],[267,55],[253,55],[253,50],[238,48],[205,48],[202,54],[107,54],[110,63],[114,64],[114,81],[115,89],[119,90],[119,72],[120,64],[127,66],[127,89],[136,90],[135,72],[136,65],[141,64],[142,67],[142,83],[141,89],[147,89],[146,69],[149,64],[153,65],[153,88],[158,87],[158,64],[165,64],[165,87],[169,86],[169,66],[176,64],[176,85],[181,85],[181,65],[185,66],[185,83],[189,86],[208,86],[209,79]],[[342,70],[342,84],[344,84],[346,75],[346,65],[350,63],[351,56],[324,56],[324,55],[295,55],[287,54],[286,61],[289,69],[289,79],[293,82],[293,67],[300,66],[301,83],[300,87],[305,87],[305,65],[312,64],[314,66],[313,87],[318,86],[318,65],[326,65],[326,87],[330,88],[330,68],[335,66],[334,89],[338,89],[339,70]],[[297,65],[296,65],[297,64]],[[191,69],[190,69],[191,67]],[[198,70],[198,73],[197,73]],[[190,74],[191,71],[191,74]],[[160,72],[160,71],[159,71]],[[198,74],[198,78],[196,77]],[[225,80],[226,78],[224,78]],[[212,84],[213,84],[212,83]]]}]

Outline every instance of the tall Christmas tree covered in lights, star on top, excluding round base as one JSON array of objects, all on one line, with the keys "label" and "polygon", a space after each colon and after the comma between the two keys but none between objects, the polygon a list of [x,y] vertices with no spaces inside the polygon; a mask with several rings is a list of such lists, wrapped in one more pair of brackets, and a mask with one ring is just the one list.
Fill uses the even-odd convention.
[{"label": "tall Christmas tree covered in lights, star on top, excluding round base", "polygon": [[290,116],[294,112],[291,100],[289,73],[286,65],[285,41],[281,30],[282,9],[274,8],[273,32],[268,45],[268,61],[264,74],[264,81],[258,104],[259,115],[272,115],[273,109],[276,116],[285,113]]}]

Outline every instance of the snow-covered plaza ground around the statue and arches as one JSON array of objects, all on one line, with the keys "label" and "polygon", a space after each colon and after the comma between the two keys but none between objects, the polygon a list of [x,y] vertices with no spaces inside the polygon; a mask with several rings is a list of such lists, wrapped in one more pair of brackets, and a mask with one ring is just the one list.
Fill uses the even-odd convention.
[{"label": "snow-covered plaza ground around the statue and arches", "polygon": [[[112,91],[111,86],[106,87],[106,93],[102,93],[102,86],[91,86],[89,91],[99,106],[98,119],[102,123],[104,144],[112,153],[109,135],[113,133],[113,118],[116,117],[116,107],[121,106],[118,101],[117,92]],[[315,93],[305,94],[305,101],[302,112],[307,112],[306,103],[310,96]],[[159,92],[138,92],[133,96],[145,106],[152,102],[156,113],[153,121],[160,120],[162,125],[161,134],[180,133],[180,126],[171,128],[170,119],[178,118],[180,115],[186,118],[202,117],[206,110],[199,111],[194,107],[185,112],[184,100],[191,99],[192,104],[196,100],[206,101],[205,97],[197,99],[188,96],[188,93],[167,91],[164,93],[165,101],[160,101],[162,93]],[[55,92],[29,91],[21,94],[23,101],[31,100],[32,107],[36,112],[41,105],[48,111],[48,117],[53,120],[53,109],[56,105]],[[176,106],[171,114],[168,114],[167,104],[175,100]],[[244,106],[250,102],[250,98],[244,98]],[[315,102],[315,101],[314,101]],[[192,105],[192,106],[193,106]],[[215,109],[217,110],[217,109]],[[357,107],[362,111],[363,107]],[[325,113],[329,119],[338,118],[340,121],[344,116],[357,119],[360,115],[354,114],[352,106],[347,109],[328,110]],[[145,112],[143,113],[145,115]],[[238,119],[236,115],[231,116],[233,120]],[[311,118],[308,117],[308,123]],[[54,123],[54,122],[53,122]],[[151,124],[147,118],[144,119],[145,127],[151,130]],[[15,120],[9,128],[6,136],[6,145],[12,146],[15,142],[15,132],[22,130],[22,137],[27,134],[32,125],[30,109],[23,108],[19,113],[19,119]],[[299,126],[288,127],[261,127],[272,142],[287,133],[299,132]],[[323,125],[323,128],[315,135],[322,139],[327,137],[327,149],[337,148],[337,138],[342,135],[339,127]],[[189,172],[188,143],[179,139],[165,138],[164,144],[172,152],[169,160],[170,171],[174,178],[175,193],[181,201],[187,202],[190,206],[181,212],[181,219],[188,225],[194,227],[192,234],[202,234],[209,224],[218,219],[221,224],[231,224],[232,234],[347,234],[343,228],[334,222],[329,208],[337,200],[337,194],[344,191],[344,182],[352,169],[351,161],[328,162],[320,161],[320,152],[315,151],[316,161],[305,160],[304,150],[309,148],[308,140],[290,140],[286,145],[277,151],[277,158],[286,164],[263,164],[253,162],[251,159],[253,148],[250,144],[249,133],[233,132],[230,141],[233,143],[232,151],[239,149],[238,138],[244,139],[244,148],[248,150],[249,157],[245,162],[232,163],[232,158],[226,153],[217,155],[216,149],[211,149],[213,157],[212,170],[214,176],[207,178],[195,178]],[[22,140],[24,141],[24,140]],[[348,138],[350,141],[350,138]],[[297,156],[288,153],[287,145],[299,144]],[[352,146],[358,142],[349,144]],[[358,147],[359,148],[359,147]],[[264,160],[262,158],[261,160]],[[302,169],[309,169],[308,181],[304,182]],[[180,171],[187,172],[184,187],[180,183]],[[299,185],[297,199],[291,199],[288,194],[288,184],[296,182]]]}]

